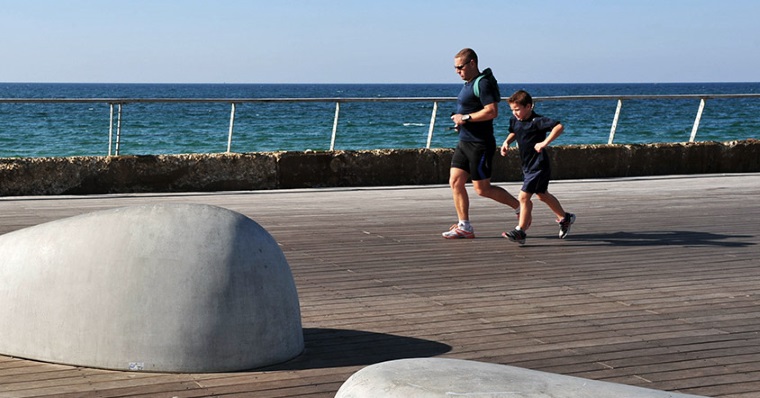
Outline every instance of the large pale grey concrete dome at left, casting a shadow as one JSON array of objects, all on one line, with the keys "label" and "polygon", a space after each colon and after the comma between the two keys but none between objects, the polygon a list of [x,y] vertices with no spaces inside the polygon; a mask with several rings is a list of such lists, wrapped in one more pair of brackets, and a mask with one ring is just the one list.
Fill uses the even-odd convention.
[{"label": "large pale grey concrete dome at left, casting a shadow", "polygon": [[97,211],[0,236],[0,353],[106,369],[226,372],[304,348],[277,242],[219,207]]}]

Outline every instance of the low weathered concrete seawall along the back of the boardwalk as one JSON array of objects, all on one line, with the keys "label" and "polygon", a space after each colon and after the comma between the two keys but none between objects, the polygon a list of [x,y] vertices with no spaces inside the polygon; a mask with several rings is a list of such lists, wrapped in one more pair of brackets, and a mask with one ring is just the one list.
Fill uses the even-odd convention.
[{"label": "low weathered concrete seawall along the back of the boardwalk", "polygon": [[[453,149],[1,158],[0,196],[445,184]],[[553,179],[760,171],[760,141],[551,148]],[[516,150],[494,182],[519,181]]]}]

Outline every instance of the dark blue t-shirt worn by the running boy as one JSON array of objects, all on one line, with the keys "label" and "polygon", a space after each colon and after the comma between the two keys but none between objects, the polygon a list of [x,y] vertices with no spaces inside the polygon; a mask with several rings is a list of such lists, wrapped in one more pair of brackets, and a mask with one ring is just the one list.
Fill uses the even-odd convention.
[{"label": "dark blue t-shirt worn by the running boy", "polygon": [[558,124],[558,120],[541,116],[535,112],[526,120],[518,120],[514,116],[509,119],[509,132],[515,133],[524,173],[550,170],[549,148],[544,148],[539,153],[536,152],[535,146],[545,140],[546,135]]}]

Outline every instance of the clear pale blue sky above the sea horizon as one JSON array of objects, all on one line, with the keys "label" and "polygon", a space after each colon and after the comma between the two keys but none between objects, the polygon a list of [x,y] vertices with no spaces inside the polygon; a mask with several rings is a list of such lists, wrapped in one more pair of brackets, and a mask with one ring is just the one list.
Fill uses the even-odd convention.
[{"label": "clear pale blue sky above the sea horizon", "polygon": [[0,0],[0,81],[757,82],[757,0]]}]

